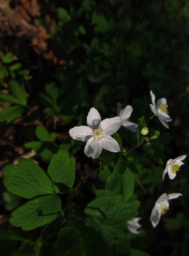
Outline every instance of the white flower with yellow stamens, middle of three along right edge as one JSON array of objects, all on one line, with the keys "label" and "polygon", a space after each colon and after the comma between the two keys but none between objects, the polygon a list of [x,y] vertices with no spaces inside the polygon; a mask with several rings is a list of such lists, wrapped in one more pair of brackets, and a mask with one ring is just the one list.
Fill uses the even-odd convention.
[{"label": "white flower with yellow stamens, middle of three along right edge", "polygon": [[180,170],[180,166],[184,164],[182,160],[184,160],[186,156],[187,155],[182,155],[175,159],[169,159],[167,161],[166,168],[163,171],[163,180],[167,172],[169,175],[169,179],[173,180],[175,178],[177,172]]}]

